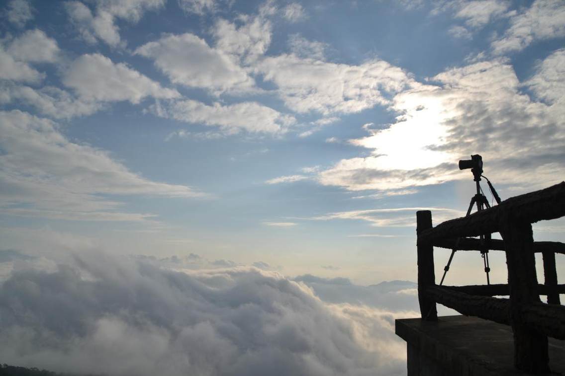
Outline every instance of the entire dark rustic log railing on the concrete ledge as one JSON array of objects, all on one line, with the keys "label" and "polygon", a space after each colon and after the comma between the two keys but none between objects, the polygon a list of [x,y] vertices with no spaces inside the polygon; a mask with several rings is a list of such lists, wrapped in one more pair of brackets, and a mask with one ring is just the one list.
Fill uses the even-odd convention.
[{"label": "entire dark rustic log railing on the concrete ledge", "polygon": [[[436,303],[467,315],[512,326],[516,368],[531,372],[549,371],[547,336],[565,339],[565,307],[559,294],[555,253],[565,254],[560,242],[534,242],[532,223],[565,216],[565,182],[546,189],[507,199],[497,206],[470,216],[456,218],[432,227],[432,213],[416,213],[418,234],[418,298],[423,320],[437,320]],[[508,285],[438,286],[434,275],[433,247],[458,251],[479,251],[479,239],[469,238],[500,233],[487,247],[505,251]],[[459,238],[459,241],[457,240]],[[538,285],[534,252],[544,260],[544,285]],[[510,299],[492,298],[509,295]],[[547,295],[548,304],[540,295]]]}]

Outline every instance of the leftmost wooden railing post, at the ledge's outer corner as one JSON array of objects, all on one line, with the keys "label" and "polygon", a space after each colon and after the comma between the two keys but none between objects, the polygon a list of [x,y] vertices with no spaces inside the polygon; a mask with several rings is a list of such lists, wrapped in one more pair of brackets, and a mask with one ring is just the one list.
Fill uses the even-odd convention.
[{"label": "leftmost wooden railing post, at the ledge's outer corner", "polygon": [[[416,212],[416,234],[432,228],[432,212],[420,210]],[[427,286],[436,284],[436,273],[433,266],[433,246],[431,243],[418,242],[418,300],[422,320],[437,321],[436,302],[425,294]]]}]

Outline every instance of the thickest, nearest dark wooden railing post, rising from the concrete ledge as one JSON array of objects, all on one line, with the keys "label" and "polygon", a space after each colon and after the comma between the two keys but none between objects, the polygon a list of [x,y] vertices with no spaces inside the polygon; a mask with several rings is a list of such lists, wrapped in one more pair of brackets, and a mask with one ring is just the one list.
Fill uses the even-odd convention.
[{"label": "thickest, nearest dark wooden railing post, rising from the concrete ledge", "polygon": [[510,322],[514,331],[514,364],[531,372],[549,372],[547,336],[528,327],[521,307],[540,302],[537,293],[536,260],[533,253],[532,225],[503,213],[500,233],[506,246],[510,287]]}]

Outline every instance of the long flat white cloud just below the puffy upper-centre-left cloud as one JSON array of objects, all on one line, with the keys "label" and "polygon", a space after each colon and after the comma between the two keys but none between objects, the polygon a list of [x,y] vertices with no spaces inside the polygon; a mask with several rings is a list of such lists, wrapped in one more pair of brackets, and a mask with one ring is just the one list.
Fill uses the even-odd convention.
[{"label": "long flat white cloud just below the puffy upper-centre-left cloud", "polygon": [[177,100],[163,106],[150,107],[155,115],[168,119],[218,125],[224,133],[247,132],[284,133],[295,123],[293,116],[284,115],[257,102],[243,102],[226,106],[214,103],[211,106],[196,100]]}]

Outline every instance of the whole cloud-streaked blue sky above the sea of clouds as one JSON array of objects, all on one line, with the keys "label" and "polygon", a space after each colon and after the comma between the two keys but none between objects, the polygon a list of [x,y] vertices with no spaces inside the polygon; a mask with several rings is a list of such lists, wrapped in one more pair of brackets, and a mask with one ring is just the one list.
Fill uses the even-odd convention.
[{"label": "whole cloud-streaked blue sky above the sea of clouds", "polygon": [[483,155],[503,199],[563,180],[559,0],[2,9],[6,249],[414,280],[416,208],[438,223],[473,194],[459,159]]}]

